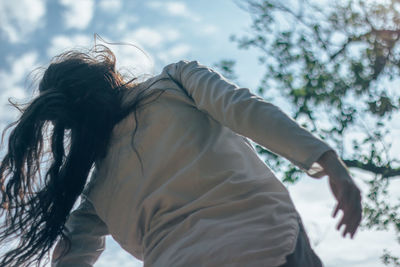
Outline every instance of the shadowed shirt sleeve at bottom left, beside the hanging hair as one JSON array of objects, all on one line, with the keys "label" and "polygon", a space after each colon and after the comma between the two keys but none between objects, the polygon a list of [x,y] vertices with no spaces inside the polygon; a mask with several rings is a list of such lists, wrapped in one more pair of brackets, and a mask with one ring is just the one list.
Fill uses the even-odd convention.
[{"label": "shadowed shirt sleeve at bottom left, beside the hanging hair", "polygon": [[63,239],[56,244],[52,267],[93,266],[105,249],[108,230],[93,205],[82,196],[81,204],[67,220],[64,233],[70,240],[70,246]]}]

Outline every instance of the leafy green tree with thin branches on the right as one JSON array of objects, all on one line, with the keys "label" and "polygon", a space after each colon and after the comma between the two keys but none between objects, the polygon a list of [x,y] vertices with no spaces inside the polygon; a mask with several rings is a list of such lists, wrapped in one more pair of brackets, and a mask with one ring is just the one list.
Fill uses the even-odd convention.
[{"label": "leafy green tree with thin branches on the right", "polygon": [[[255,48],[265,75],[258,93],[279,92],[303,126],[334,146],[350,169],[367,171],[369,192],[363,225],[394,227],[400,242],[399,203],[386,200],[399,178],[390,127],[399,116],[400,1],[244,0],[252,17],[246,36],[232,36],[240,48]],[[217,67],[234,77],[232,60]],[[264,148],[269,165],[295,182],[300,171]],[[400,266],[385,251],[385,264]]]}]

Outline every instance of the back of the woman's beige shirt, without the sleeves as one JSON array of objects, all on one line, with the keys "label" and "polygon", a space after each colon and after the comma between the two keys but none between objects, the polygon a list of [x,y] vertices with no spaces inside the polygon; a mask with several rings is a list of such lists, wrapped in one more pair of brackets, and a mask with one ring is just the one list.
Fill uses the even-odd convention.
[{"label": "back of the woman's beige shirt, without the sleeves", "polygon": [[[192,73],[201,68],[192,79],[207,71],[194,62],[178,64]],[[203,266],[283,264],[299,223],[287,190],[246,138],[197,108],[190,91],[168,76],[171,68],[176,66],[144,84],[166,90],[138,110],[134,145],[140,160],[131,146],[136,122],[130,115],[114,129],[88,200],[117,242],[148,266],[193,266],[199,260]],[[125,104],[129,93],[134,91]],[[240,97],[230,105],[249,95]],[[322,142],[314,146],[330,149]]]}]

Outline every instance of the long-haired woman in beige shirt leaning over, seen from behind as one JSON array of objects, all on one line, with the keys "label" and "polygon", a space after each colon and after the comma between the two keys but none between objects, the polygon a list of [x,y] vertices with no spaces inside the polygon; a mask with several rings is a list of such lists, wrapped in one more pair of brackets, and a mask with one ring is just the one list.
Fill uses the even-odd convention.
[{"label": "long-haired woman in beige shirt leaning over, seen from behind", "polygon": [[196,61],[136,83],[107,48],[68,52],[39,93],[0,166],[0,241],[20,241],[1,266],[39,264],[57,241],[52,266],[93,266],[108,234],[144,266],[321,266],[246,137],[329,176],[343,236],[360,223],[360,191],[326,143]]}]

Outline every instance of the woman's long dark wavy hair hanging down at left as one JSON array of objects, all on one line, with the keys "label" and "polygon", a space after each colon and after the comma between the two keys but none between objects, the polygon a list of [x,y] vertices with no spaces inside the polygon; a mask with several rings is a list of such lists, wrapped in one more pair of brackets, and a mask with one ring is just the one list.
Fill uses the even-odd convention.
[{"label": "woman's long dark wavy hair hanging down at left", "polygon": [[114,54],[96,46],[55,57],[40,94],[29,105],[15,105],[22,114],[6,128],[12,131],[0,165],[0,244],[19,242],[0,266],[39,266],[48,259],[94,162],[106,155],[113,127],[132,111],[137,122],[136,108],[149,95],[143,90],[129,109],[121,106],[122,93],[135,89],[134,79],[124,82],[116,71]]}]

